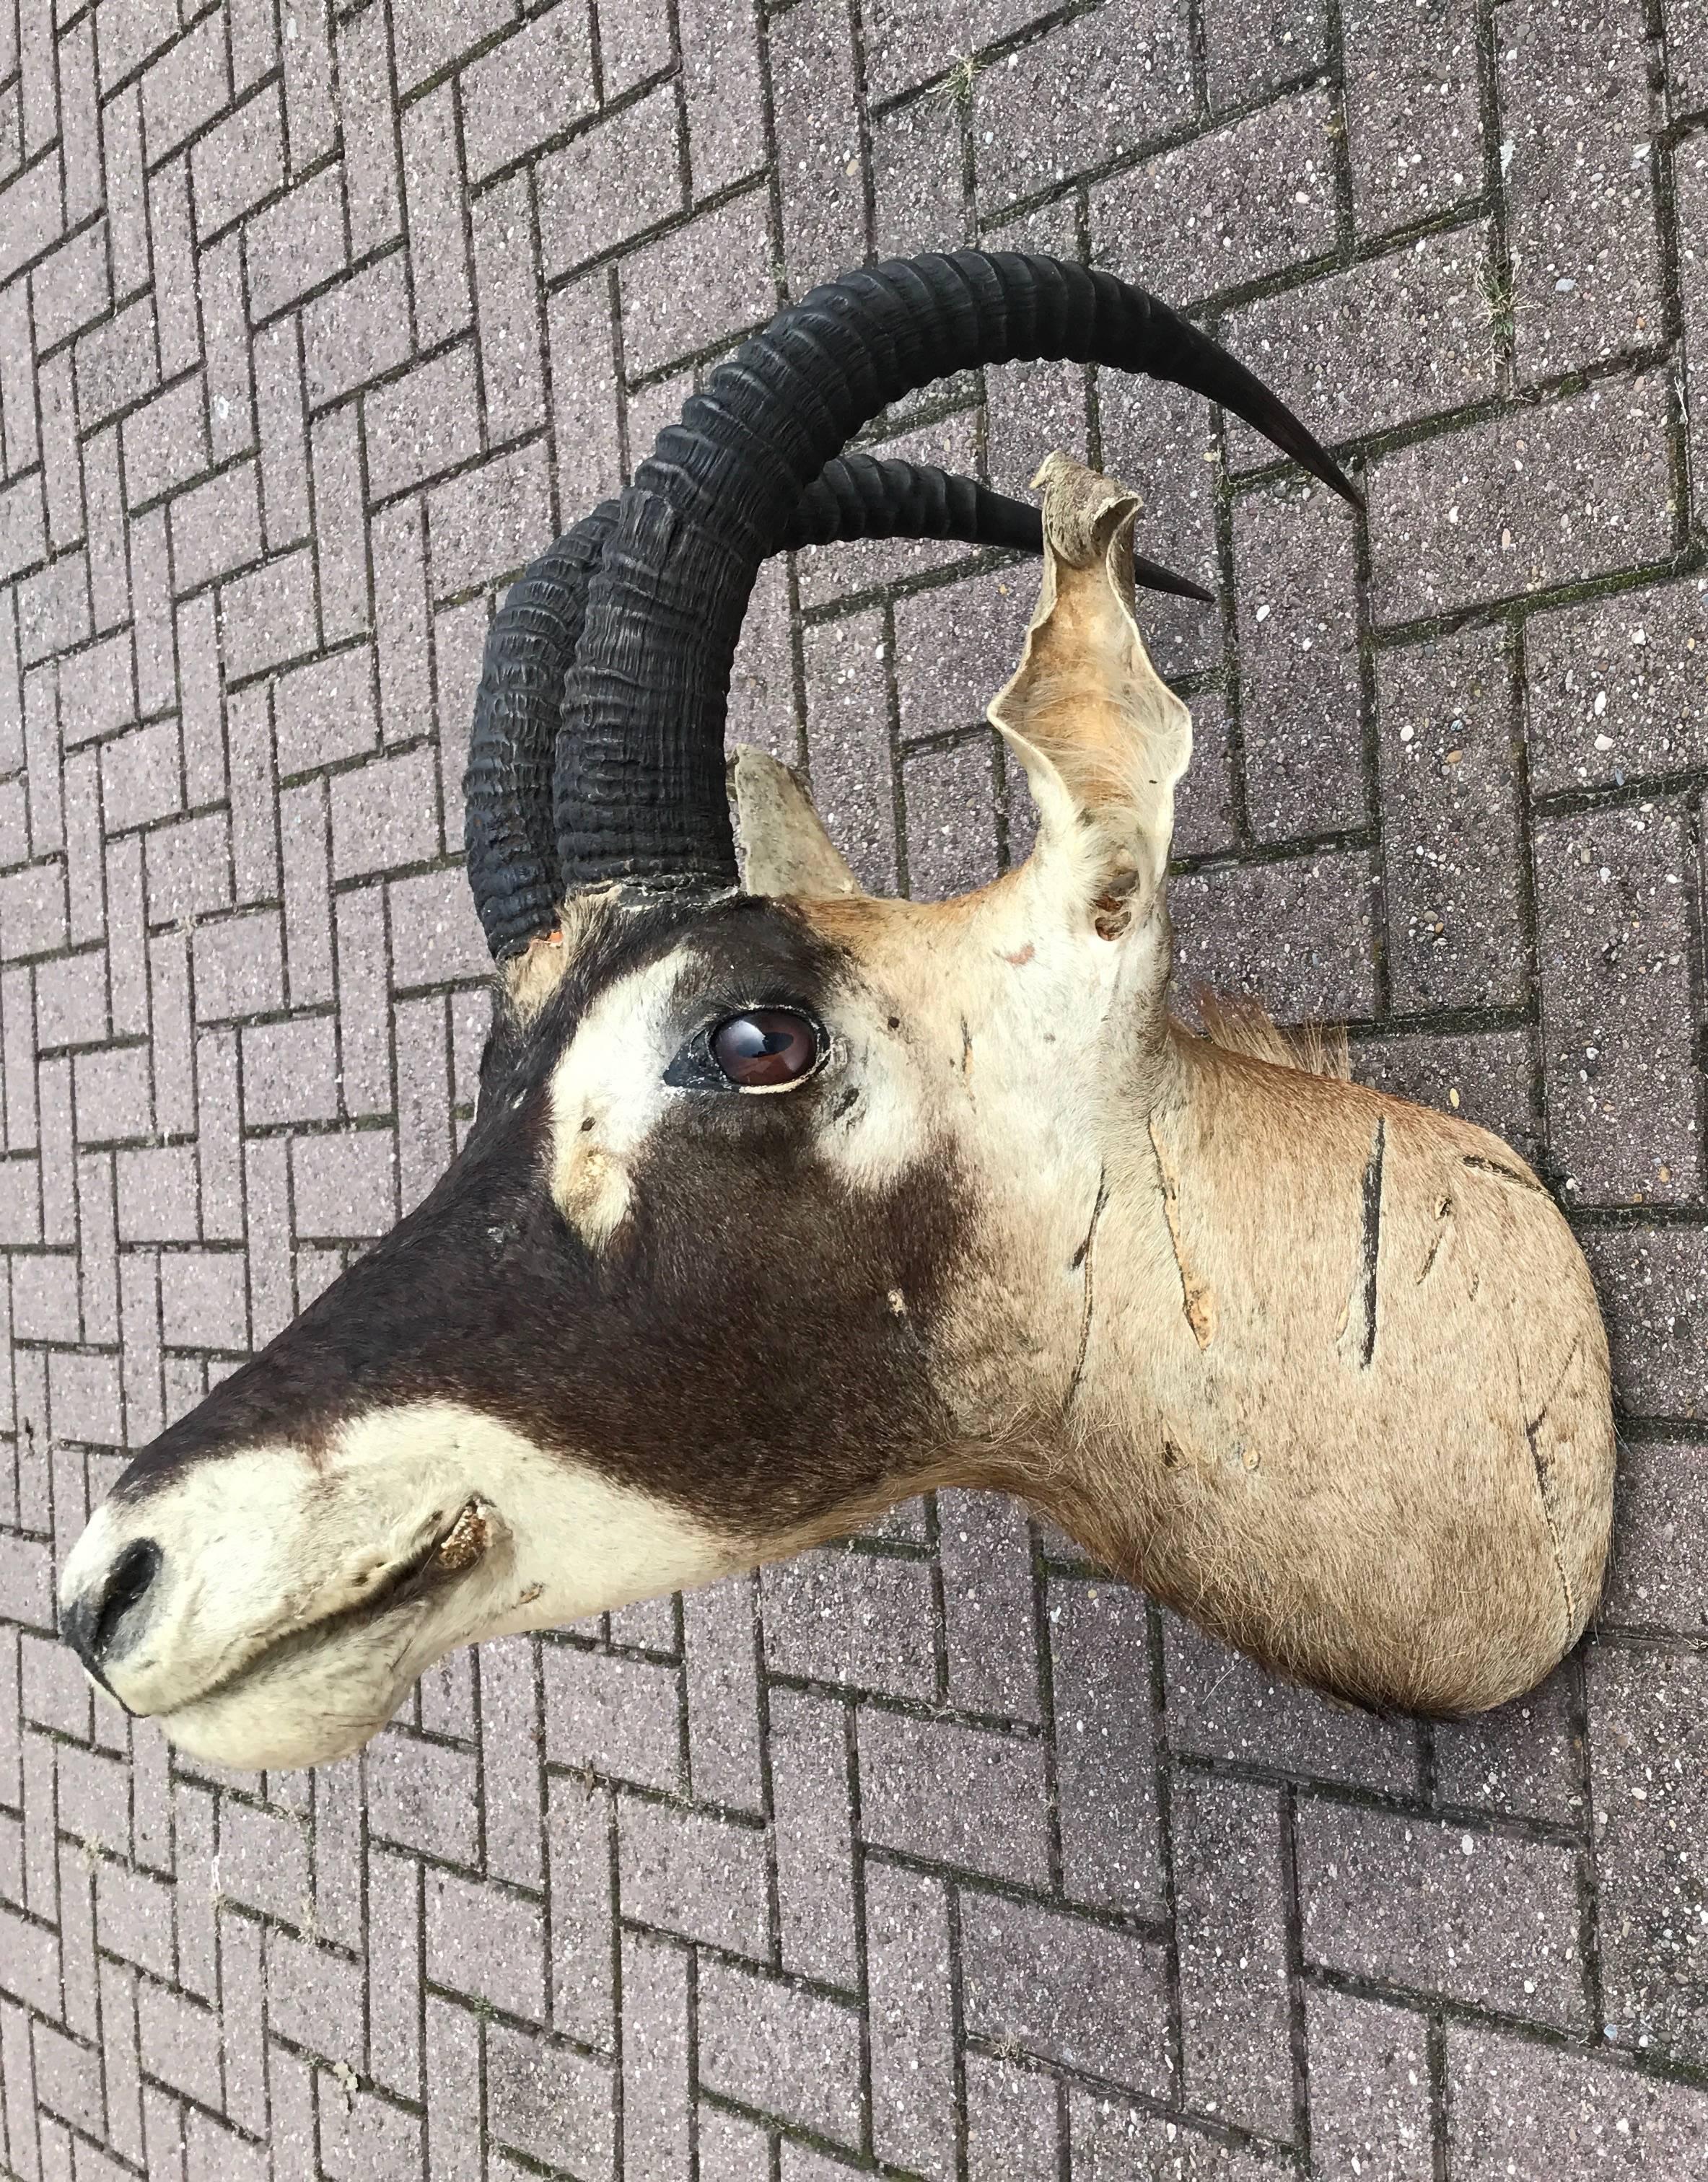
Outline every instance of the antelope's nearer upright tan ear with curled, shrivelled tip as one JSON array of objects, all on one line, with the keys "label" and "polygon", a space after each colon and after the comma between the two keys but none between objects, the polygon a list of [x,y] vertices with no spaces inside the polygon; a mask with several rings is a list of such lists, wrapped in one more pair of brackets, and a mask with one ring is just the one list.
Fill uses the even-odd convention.
[{"label": "antelope's nearer upright tan ear with curled, shrivelled tip", "polygon": [[1062,864],[1097,932],[1119,938],[1167,871],[1191,714],[1150,663],[1132,613],[1139,495],[1065,454],[1032,487],[1043,491],[1043,589],[988,718],[1025,766],[1036,860]]}]

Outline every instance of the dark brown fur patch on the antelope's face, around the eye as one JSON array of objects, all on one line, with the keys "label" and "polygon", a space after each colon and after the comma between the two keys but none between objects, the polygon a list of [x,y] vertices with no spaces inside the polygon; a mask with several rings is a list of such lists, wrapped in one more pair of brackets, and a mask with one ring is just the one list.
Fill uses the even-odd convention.
[{"label": "dark brown fur patch on the antelope's face, around the eye", "polygon": [[877,1194],[840,1180],[816,1150],[857,1095],[840,1071],[772,1098],[683,1093],[600,1250],[556,1209],[552,1069],[591,999],[683,938],[683,1039],[744,1006],[833,1023],[855,975],[774,903],[611,914],[534,1026],[500,1023],[478,1124],[432,1196],[161,1434],[120,1497],[238,1447],[312,1453],[369,1410],[432,1399],[742,1536],[811,1523],[940,1447],[931,1344],[966,1204],[942,1156]]}]

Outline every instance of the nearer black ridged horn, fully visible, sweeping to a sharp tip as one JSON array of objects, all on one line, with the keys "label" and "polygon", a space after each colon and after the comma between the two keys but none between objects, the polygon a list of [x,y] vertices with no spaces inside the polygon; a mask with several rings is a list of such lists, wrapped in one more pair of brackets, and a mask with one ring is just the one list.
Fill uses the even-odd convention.
[{"label": "nearer black ridged horn, fully visible, sweeping to a sharp tip", "polygon": [[1191,386],[1357,504],[1261,380],[1112,273],[955,251],[814,288],[711,373],[617,502],[565,685],[552,783],[565,890],[735,884],[724,700],[759,565],[807,482],[881,408],[1019,358]]}]

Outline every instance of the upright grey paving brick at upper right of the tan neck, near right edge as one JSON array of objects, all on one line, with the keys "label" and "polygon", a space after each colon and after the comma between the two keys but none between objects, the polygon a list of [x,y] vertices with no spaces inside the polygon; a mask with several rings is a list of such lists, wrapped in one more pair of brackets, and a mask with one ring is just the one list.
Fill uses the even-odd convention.
[{"label": "upright grey paving brick at upper right of the tan neck, near right edge", "polygon": [[1699,1194],[1688,866],[1669,805],[1536,829],[1549,1141],[1581,1204]]}]

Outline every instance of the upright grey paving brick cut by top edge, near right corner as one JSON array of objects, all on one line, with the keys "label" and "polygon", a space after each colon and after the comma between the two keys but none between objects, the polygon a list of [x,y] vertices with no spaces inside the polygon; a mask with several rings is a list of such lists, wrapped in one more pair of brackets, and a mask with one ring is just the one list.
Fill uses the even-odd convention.
[{"label": "upright grey paving brick cut by top edge, near right corner", "polygon": [[1525,380],[1662,338],[1647,33],[1629,0],[1592,13],[1518,0],[1501,24],[1501,166]]}]

